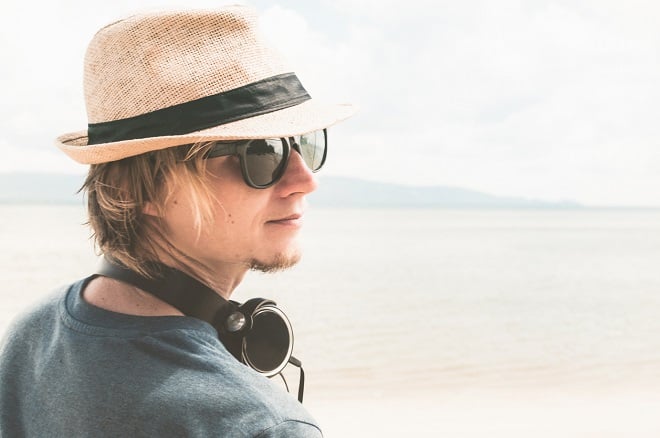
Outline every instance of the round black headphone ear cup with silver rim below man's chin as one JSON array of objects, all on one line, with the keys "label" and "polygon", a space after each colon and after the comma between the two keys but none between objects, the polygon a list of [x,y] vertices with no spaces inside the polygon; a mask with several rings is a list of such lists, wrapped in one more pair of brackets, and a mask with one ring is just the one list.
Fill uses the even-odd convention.
[{"label": "round black headphone ear cup with silver rim below man's chin", "polygon": [[[275,302],[253,298],[239,307],[249,312],[251,328],[243,335],[241,361],[270,377],[282,371],[293,352],[293,330]],[[247,316],[247,315],[246,315]]]}]

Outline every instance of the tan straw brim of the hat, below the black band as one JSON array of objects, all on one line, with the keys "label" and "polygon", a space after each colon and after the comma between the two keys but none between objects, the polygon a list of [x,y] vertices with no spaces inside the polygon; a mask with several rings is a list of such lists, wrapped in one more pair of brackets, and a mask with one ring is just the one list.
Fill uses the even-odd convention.
[{"label": "tan straw brim of the hat, below the black band", "polygon": [[325,104],[308,100],[282,110],[183,135],[88,145],[87,131],[78,131],[59,136],[56,144],[79,163],[98,164],[200,141],[279,138],[305,134],[328,128],[349,118],[356,111],[357,108],[351,104]]}]

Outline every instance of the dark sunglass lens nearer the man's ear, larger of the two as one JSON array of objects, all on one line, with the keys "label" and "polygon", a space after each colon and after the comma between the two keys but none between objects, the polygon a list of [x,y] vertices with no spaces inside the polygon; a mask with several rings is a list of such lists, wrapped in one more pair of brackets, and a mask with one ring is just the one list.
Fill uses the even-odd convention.
[{"label": "dark sunglass lens nearer the man's ear, larger of the two", "polygon": [[282,171],[284,145],[280,139],[252,140],[245,151],[245,167],[249,178],[258,186],[267,186]]}]

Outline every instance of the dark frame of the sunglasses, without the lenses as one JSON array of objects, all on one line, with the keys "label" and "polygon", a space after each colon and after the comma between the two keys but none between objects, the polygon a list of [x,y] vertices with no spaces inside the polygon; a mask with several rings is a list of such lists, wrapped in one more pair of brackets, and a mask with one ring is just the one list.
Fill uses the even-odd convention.
[{"label": "dark frame of the sunglasses, without the lenses", "polygon": [[[312,132],[316,132],[316,131],[312,131]],[[252,139],[230,141],[230,142],[216,142],[213,145],[213,147],[208,151],[205,158],[209,159],[209,158],[223,157],[228,155],[237,155],[241,163],[241,174],[243,175],[243,181],[245,181],[245,183],[252,188],[266,189],[272,185],[275,185],[286,173],[286,169],[289,166],[289,158],[291,157],[291,149],[295,149],[303,157],[303,161],[305,161],[305,156],[302,153],[301,146],[298,143],[296,143],[294,139],[294,137],[301,137],[304,135],[307,134],[302,134],[300,136],[292,136],[288,138],[285,137],[279,138],[279,140],[282,142],[282,162],[279,164],[282,170],[280,170],[278,174],[273,178],[273,180],[267,184],[257,184],[252,180],[247,168],[248,166],[247,166],[246,153],[250,142],[254,140],[278,140],[277,138],[266,138],[266,139],[252,138]],[[325,159],[328,155],[327,129],[323,129],[323,141],[325,147],[323,149],[323,158],[321,159],[321,164],[319,165],[319,167],[317,169],[312,169],[309,167],[309,165],[307,165],[307,161],[305,161],[305,165],[307,165],[307,167],[313,173],[316,173],[319,170],[321,170],[321,168],[325,164]]]}]

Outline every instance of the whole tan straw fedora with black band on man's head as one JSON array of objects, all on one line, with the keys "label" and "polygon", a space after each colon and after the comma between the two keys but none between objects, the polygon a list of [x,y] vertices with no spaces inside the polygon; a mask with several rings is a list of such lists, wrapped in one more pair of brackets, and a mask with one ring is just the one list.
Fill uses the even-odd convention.
[{"label": "whole tan straw fedora with black band on man's head", "polygon": [[309,96],[253,9],[148,13],[102,28],[85,56],[88,129],[57,145],[103,163],[204,140],[287,137],[355,112]]}]

